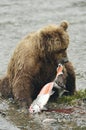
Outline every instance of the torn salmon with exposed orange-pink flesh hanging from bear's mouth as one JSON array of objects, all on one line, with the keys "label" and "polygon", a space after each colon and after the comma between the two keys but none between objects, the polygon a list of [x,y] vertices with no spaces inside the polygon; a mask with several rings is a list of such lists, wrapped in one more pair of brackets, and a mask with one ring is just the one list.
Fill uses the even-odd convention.
[{"label": "torn salmon with exposed orange-pink flesh hanging from bear's mouth", "polygon": [[[58,80],[58,76],[63,74],[63,65],[59,64],[57,67],[57,74],[56,74],[56,80]],[[29,108],[29,112],[30,113],[38,113],[41,112],[42,110],[45,110],[45,105],[47,104],[50,96],[52,94],[54,94],[54,91],[52,90],[53,87],[57,88],[57,89],[61,89],[61,94],[60,96],[64,93],[64,88],[61,88],[60,86],[58,86],[58,84],[54,81],[47,83],[46,85],[44,85],[41,89],[41,91],[39,92],[37,98],[32,102],[30,108]]]}]

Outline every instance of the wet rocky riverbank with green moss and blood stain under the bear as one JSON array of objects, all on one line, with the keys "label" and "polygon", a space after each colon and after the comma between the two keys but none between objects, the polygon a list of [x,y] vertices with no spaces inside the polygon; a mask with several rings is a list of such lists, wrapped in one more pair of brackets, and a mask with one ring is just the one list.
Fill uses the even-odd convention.
[{"label": "wet rocky riverbank with green moss and blood stain under the bear", "polygon": [[86,90],[49,102],[48,110],[31,115],[10,100],[0,99],[1,130],[85,130]]}]

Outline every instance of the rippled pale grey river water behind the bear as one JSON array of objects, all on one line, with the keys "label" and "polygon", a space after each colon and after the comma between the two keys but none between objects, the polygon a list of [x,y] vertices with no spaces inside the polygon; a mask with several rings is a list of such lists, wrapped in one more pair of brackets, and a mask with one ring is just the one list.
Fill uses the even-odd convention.
[{"label": "rippled pale grey river water behind the bear", "polygon": [[0,76],[5,74],[16,44],[25,35],[48,24],[59,24],[62,20],[69,22],[68,56],[75,68],[76,86],[85,89],[85,0],[0,0]]}]

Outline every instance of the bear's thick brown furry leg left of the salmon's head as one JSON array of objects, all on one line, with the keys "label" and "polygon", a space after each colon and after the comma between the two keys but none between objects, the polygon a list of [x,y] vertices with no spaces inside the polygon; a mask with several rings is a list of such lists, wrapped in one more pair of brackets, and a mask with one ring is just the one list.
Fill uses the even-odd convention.
[{"label": "bear's thick brown furry leg left of the salmon's head", "polygon": [[32,103],[32,91],[31,82],[27,77],[20,76],[14,79],[12,92],[20,107],[27,107]]}]

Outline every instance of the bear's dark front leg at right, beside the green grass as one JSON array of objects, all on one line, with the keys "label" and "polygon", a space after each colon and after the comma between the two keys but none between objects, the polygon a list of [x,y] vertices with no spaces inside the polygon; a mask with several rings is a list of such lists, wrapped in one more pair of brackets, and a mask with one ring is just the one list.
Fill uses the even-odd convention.
[{"label": "bear's dark front leg at right, beside the green grass", "polygon": [[74,68],[71,62],[65,63],[65,68],[68,74],[67,81],[66,81],[66,88],[69,91],[68,95],[73,95],[74,92],[76,91],[76,77],[75,77]]}]

